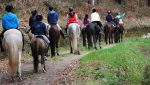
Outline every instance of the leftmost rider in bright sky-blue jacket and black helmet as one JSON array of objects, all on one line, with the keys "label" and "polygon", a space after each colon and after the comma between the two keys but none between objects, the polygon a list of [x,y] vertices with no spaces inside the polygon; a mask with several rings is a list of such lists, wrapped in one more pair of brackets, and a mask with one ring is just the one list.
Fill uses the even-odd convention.
[{"label": "leftmost rider in bright sky-blue jacket and black helmet", "polygon": [[[0,35],[0,37],[1,37],[0,47],[1,47],[2,51],[4,50],[2,48],[2,38],[3,38],[4,32],[9,29],[19,29],[19,19],[18,19],[17,15],[12,12],[13,9],[14,9],[13,6],[11,4],[8,4],[5,8],[7,13],[4,14],[2,17],[3,31]],[[22,37],[23,37],[23,34],[22,34]],[[23,37],[23,48],[24,48],[24,37]]]}]

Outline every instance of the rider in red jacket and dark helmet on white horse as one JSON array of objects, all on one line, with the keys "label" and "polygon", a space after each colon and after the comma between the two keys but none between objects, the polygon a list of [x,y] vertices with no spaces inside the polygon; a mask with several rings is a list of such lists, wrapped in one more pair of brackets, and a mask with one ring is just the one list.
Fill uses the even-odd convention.
[{"label": "rider in red jacket and dark helmet on white horse", "polygon": [[67,14],[67,25],[66,25],[66,28],[65,28],[66,33],[67,33],[68,25],[70,23],[76,23],[76,24],[79,25],[78,16],[74,12],[74,8],[73,7],[69,7],[69,13]]}]

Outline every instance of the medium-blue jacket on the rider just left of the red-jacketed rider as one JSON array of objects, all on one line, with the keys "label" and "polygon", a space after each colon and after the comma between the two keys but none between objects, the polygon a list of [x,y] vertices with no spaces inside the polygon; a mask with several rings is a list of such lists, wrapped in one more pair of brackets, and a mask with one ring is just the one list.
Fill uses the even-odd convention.
[{"label": "medium-blue jacket on the rider just left of the red-jacketed rider", "polygon": [[48,23],[50,25],[56,25],[58,21],[58,14],[54,10],[50,11],[47,16]]}]

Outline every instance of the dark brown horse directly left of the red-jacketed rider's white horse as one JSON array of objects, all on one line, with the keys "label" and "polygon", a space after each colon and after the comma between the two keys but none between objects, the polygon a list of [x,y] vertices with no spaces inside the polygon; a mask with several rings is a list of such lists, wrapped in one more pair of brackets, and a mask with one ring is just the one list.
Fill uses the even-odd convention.
[{"label": "dark brown horse directly left of the red-jacketed rider's white horse", "polygon": [[60,40],[60,30],[58,29],[57,25],[51,26],[49,30],[49,40],[50,40],[50,47],[51,47],[51,57],[54,57],[55,54],[59,55],[59,40]]}]

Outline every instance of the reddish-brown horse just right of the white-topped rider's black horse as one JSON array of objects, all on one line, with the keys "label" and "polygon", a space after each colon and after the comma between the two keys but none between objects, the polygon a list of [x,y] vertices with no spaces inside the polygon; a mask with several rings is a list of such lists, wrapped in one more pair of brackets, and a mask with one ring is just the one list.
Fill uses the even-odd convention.
[{"label": "reddish-brown horse just right of the white-topped rider's black horse", "polygon": [[104,34],[105,34],[105,42],[106,44],[108,44],[108,40],[109,40],[109,44],[113,43],[114,41],[114,28],[112,23],[107,22],[106,25],[104,26]]}]

